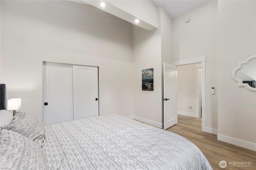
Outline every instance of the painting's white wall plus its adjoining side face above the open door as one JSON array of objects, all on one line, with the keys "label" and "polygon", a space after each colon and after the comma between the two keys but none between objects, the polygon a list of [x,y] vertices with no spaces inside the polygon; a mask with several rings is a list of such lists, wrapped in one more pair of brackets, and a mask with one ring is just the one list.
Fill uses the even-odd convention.
[{"label": "painting's white wall plus its adjoining side face above the open door", "polygon": [[[133,27],[134,118],[157,127],[163,123],[164,62],[172,63],[172,18],[158,7],[158,29]],[[154,68],[154,91],[142,91],[142,69]],[[151,113],[154,113],[154,117]]]}]

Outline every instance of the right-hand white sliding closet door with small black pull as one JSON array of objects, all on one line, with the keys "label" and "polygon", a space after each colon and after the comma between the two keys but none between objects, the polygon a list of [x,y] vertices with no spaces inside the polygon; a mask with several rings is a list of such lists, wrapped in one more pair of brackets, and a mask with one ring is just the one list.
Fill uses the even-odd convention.
[{"label": "right-hand white sliding closet door with small black pull", "polygon": [[98,67],[73,65],[74,120],[99,115]]}]

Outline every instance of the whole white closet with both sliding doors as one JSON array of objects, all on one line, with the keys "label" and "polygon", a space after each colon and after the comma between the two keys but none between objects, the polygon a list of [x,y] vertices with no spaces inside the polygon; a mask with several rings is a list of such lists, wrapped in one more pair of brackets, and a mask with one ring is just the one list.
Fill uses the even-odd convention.
[{"label": "whole white closet with both sliding doors", "polygon": [[43,62],[43,122],[99,115],[98,67]]}]

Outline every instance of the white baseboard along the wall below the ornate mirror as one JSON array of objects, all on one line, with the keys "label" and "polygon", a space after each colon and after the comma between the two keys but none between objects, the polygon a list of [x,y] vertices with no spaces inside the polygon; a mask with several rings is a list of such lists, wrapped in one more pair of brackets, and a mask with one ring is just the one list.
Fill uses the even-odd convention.
[{"label": "white baseboard along the wall below the ornate mirror", "polygon": [[243,147],[243,148],[247,148],[247,149],[251,149],[251,150],[256,151],[256,143],[242,141],[240,139],[236,139],[236,138],[232,138],[232,137],[228,137],[228,136],[224,136],[224,135],[220,135],[220,134],[218,134],[217,139],[220,140],[220,141],[223,141],[223,142],[227,142],[227,143],[231,143],[233,145],[237,145],[239,147]]}]

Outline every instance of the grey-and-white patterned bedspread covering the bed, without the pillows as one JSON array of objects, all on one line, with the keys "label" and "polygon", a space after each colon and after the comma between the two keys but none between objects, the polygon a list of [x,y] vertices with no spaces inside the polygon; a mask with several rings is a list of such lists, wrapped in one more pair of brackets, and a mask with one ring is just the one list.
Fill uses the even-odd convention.
[{"label": "grey-and-white patterned bedspread covering the bed, without the pillows", "polygon": [[49,170],[206,170],[208,160],[184,137],[119,115],[45,127]]}]

